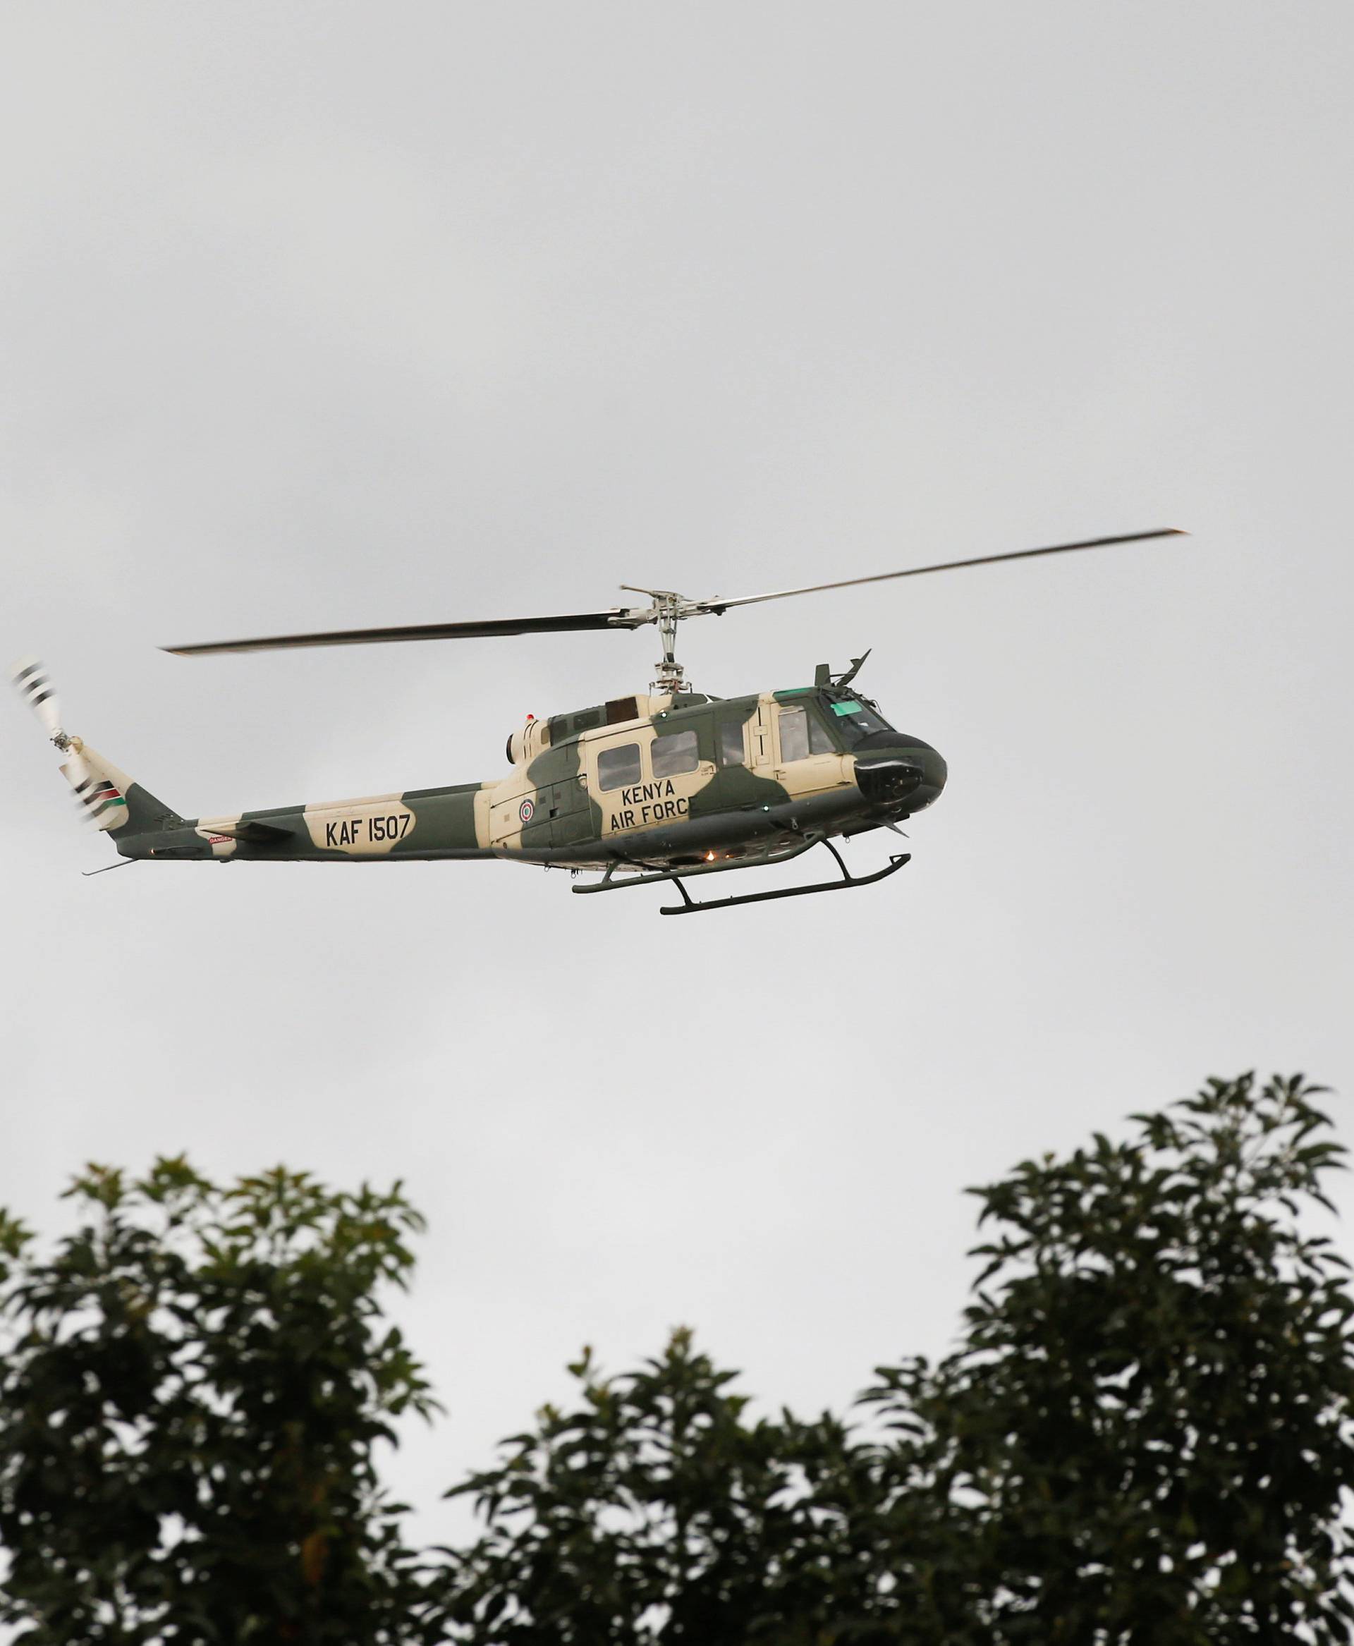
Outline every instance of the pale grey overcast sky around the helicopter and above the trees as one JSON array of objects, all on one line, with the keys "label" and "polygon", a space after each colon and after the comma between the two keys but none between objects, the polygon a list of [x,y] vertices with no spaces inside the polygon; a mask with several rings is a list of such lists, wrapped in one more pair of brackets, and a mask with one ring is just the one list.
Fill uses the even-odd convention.
[{"label": "pale grey overcast sky around the helicopter and above the trees", "polygon": [[449,1417],[398,1480],[439,1536],[584,1341],[691,1323],[841,1406],[951,1341],[964,1185],[1252,1065],[1349,1134],[1347,5],[0,36],[0,662],[186,815],[502,775],[656,649],[163,644],[1193,532],[689,624],[717,693],[874,647],[951,770],[897,879],[711,920],[497,863],[95,886],[13,700],[0,1203],[56,1230],[86,1159],[179,1149],[406,1179]]}]

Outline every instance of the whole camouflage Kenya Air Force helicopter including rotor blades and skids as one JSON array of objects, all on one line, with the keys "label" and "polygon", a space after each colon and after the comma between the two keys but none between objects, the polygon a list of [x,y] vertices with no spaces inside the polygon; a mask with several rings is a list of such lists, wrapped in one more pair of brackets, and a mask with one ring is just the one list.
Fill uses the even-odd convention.
[{"label": "whole camouflage Kenya Air Force helicopter including rotor blades and skids", "polygon": [[[648,606],[553,617],[413,624],[290,634],[165,647],[178,657],[263,652],[278,647],[372,645],[561,630],[640,629],[653,624],[663,658],[647,695],[594,708],[528,716],[508,737],[512,772],[479,783],[413,788],[364,800],[183,818],[110,760],[63,729],[51,681],[38,662],[15,681],[66,756],[61,767],[97,828],[122,858],[153,863],[395,863],[502,858],[546,867],[597,871],[576,892],[615,892],[671,882],[681,902],[660,914],[734,909],[780,897],[856,890],[897,874],[897,853],[872,874],[854,876],[834,838],[892,828],[930,807],[944,788],[946,764],[921,737],[897,731],[877,703],[856,690],[865,657],[834,675],[821,663],[811,686],[716,698],[688,688],[676,662],[676,630],[735,606],[888,583],[931,571],[1064,555],[1111,543],[1181,535],[1176,528],[1089,538],[1004,555],[911,566],[867,578],[818,583],[740,599],[686,599],[670,589],[637,589]],[[790,863],[814,846],[836,858],[839,876],[698,902],[686,881]],[[120,867],[120,864],[109,864]],[[95,874],[105,871],[95,869]]]}]

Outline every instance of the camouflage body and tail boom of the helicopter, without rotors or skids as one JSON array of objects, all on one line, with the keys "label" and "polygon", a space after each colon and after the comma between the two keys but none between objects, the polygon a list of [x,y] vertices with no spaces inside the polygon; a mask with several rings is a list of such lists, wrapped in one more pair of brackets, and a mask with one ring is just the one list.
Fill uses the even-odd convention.
[{"label": "camouflage body and tail boom of the helicopter, without rotors or skids", "polygon": [[946,780],[930,744],[831,685],[617,698],[530,719],[508,757],[512,772],[484,783],[192,821],[155,816],[155,826],[127,783],[132,826],[117,826],[114,839],[125,858],[155,861],[732,867],[805,838],[895,823],[931,805]]}]

